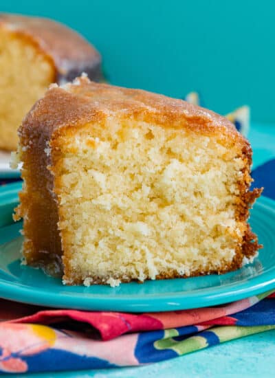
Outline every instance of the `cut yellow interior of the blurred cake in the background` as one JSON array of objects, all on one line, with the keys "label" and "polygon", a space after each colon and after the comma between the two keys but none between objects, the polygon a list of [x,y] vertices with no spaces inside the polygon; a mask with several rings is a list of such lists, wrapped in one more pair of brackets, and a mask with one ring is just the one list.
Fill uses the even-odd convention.
[{"label": "cut yellow interior of the blurred cake in the background", "polygon": [[55,80],[51,61],[16,32],[0,28],[0,148],[17,148],[17,128]]}]

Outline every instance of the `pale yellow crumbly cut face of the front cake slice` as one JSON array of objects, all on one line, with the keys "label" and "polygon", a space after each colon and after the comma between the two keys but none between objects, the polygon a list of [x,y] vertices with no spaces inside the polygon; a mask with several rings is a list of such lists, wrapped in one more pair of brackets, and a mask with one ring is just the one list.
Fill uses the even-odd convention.
[{"label": "pale yellow crumbly cut face of the front cake slice", "polygon": [[88,284],[228,269],[244,232],[235,220],[244,166],[219,137],[88,125],[54,170],[65,276]]}]

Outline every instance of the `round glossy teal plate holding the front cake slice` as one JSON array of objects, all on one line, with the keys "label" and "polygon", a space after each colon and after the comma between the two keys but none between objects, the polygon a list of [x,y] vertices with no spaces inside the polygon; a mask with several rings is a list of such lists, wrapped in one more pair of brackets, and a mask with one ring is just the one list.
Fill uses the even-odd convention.
[{"label": "round glossy teal plate holding the front cake slice", "polygon": [[[5,206],[10,209],[11,203],[14,205],[18,188],[19,184],[15,184],[1,190],[2,210]],[[115,288],[66,287],[61,280],[46,276],[39,269],[21,266],[21,224],[5,225],[0,228],[0,297],[49,307],[148,312],[213,306],[275,289],[274,204],[262,197],[252,210],[252,229],[264,245],[253,264],[221,276],[131,282]]]}]

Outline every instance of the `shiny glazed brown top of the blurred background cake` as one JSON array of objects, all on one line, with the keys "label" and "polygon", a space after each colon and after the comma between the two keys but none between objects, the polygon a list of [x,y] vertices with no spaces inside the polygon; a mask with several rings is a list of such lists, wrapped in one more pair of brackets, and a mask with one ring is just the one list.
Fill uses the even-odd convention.
[{"label": "shiny glazed brown top of the blurred background cake", "polygon": [[41,17],[0,14],[0,28],[21,34],[54,60],[61,76],[69,71],[89,71],[100,67],[98,51],[77,32],[69,27]]}]

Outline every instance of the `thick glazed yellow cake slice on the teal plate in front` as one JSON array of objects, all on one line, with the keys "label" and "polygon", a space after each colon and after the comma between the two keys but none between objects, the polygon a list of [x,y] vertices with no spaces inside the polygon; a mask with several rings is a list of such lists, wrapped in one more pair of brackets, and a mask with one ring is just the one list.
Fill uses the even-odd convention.
[{"label": "thick glazed yellow cake slice on the teal plate in front", "polygon": [[212,111],[82,77],[19,137],[25,263],[65,284],[221,274],[259,249],[250,144]]}]

